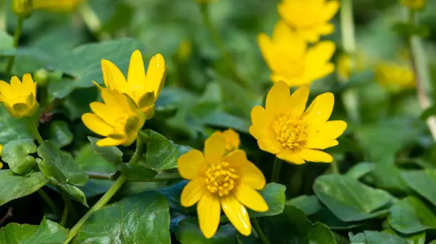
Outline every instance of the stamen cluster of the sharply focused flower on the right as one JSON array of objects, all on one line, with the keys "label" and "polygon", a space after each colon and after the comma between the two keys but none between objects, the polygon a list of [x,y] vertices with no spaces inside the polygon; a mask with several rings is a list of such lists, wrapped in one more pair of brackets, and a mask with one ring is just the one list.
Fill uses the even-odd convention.
[{"label": "stamen cluster of the sharply focused flower on the right", "polygon": [[292,152],[301,150],[307,143],[308,124],[288,115],[279,115],[271,124],[277,142]]}]

